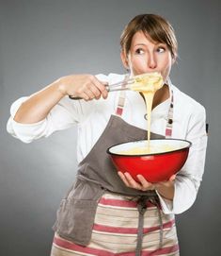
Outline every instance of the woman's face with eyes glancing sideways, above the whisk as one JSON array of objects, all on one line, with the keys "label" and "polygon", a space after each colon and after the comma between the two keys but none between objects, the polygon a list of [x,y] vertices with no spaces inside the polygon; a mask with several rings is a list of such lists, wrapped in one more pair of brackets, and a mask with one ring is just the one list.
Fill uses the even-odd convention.
[{"label": "woman's face with eyes glancing sideways, above the whisk", "polygon": [[125,68],[130,69],[132,76],[159,72],[164,81],[173,64],[166,43],[152,42],[142,31],[134,34],[129,54],[126,56],[121,53],[121,59]]}]

